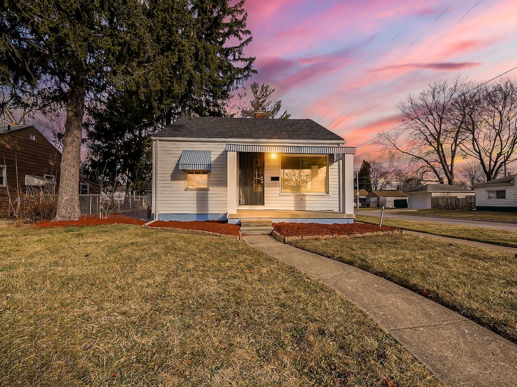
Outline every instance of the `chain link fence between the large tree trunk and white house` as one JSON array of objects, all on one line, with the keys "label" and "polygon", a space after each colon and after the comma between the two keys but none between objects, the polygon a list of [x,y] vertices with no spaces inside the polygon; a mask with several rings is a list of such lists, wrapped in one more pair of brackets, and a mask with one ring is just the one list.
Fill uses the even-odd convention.
[{"label": "chain link fence between the large tree trunk and white house", "polygon": [[79,195],[79,207],[81,215],[93,215],[99,218],[120,215],[141,220],[151,219],[149,196]]}]

